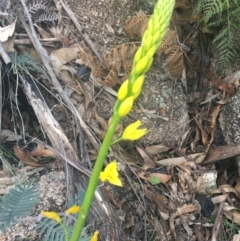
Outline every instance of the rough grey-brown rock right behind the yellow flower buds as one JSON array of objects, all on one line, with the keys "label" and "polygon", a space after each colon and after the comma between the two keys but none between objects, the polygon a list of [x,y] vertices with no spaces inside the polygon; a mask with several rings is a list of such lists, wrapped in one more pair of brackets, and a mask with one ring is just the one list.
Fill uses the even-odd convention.
[{"label": "rough grey-brown rock right behind the yellow flower buds", "polygon": [[174,145],[189,127],[186,96],[180,80],[171,80],[159,71],[152,71],[137,103],[141,109],[137,118],[149,130],[142,139],[145,145]]}]

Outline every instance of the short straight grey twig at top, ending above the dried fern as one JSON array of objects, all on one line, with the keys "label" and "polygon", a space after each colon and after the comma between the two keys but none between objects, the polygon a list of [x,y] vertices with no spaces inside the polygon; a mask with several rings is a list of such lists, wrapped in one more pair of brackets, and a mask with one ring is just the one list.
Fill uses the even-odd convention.
[{"label": "short straight grey twig at top, ending above the dried fern", "polygon": [[94,52],[94,54],[96,54],[96,56],[98,57],[98,59],[100,61],[102,61],[102,58],[100,56],[100,54],[98,53],[96,47],[94,46],[92,40],[89,38],[89,36],[86,34],[84,28],[79,24],[79,22],[77,21],[77,18],[75,17],[74,13],[72,12],[72,10],[67,6],[67,4],[65,4],[65,2],[63,0],[60,0],[64,10],[67,12],[67,14],[69,15],[69,17],[72,19],[73,23],[75,24],[76,28],[78,29],[79,33],[82,35],[82,37],[84,38],[84,40],[86,41],[86,43],[89,45],[89,47],[92,49],[92,51]]}]

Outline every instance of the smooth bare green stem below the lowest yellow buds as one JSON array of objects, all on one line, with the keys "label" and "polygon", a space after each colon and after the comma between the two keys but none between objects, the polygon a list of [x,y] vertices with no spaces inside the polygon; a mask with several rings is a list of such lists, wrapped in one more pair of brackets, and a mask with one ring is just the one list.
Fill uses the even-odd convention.
[{"label": "smooth bare green stem below the lowest yellow buds", "polygon": [[84,196],[81,211],[78,215],[78,219],[74,226],[73,234],[72,234],[70,241],[78,241],[79,240],[79,237],[81,235],[82,229],[84,227],[86,218],[87,218],[89,210],[90,210],[90,206],[91,206],[91,203],[92,203],[92,200],[94,197],[94,192],[98,185],[99,175],[100,175],[100,172],[102,171],[103,163],[104,163],[104,160],[108,153],[108,148],[111,144],[112,137],[115,133],[115,130],[117,128],[119,121],[120,121],[120,117],[117,114],[114,114],[112,121],[111,121],[111,125],[108,128],[108,131],[105,135],[102,146],[99,150],[98,158],[97,158],[95,166],[93,168],[92,175],[91,175],[89,183],[88,183],[88,188],[87,188],[86,194]]}]

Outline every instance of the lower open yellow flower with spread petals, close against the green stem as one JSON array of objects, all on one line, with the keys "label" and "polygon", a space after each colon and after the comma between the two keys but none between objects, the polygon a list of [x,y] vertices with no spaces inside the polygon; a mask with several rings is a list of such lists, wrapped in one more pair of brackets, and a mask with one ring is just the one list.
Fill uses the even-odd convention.
[{"label": "lower open yellow flower with spread petals, close against the green stem", "polygon": [[122,182],[118,177],[117,163],[110,162],[104,169],[103,172],[100,173],[100,179],[102,182],[108,181],[109,183],[122,187]]}]

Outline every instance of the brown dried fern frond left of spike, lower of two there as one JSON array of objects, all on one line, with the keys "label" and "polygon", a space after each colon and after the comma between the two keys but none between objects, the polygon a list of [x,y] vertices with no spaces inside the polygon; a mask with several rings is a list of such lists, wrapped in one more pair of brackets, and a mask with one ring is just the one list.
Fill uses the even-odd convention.
[{"label": "brown dried fern frond left of spike, lower of two there", "polygon": [[132,59],[136,51],[135,43],[121,44],[105,54],[102,65],[108,70],[115,69],[118,75],[125,75],[131,71]]}]

